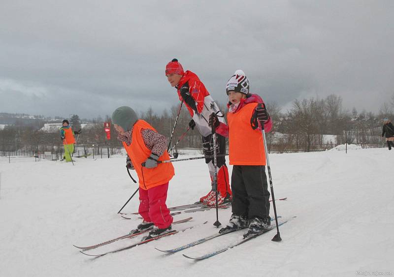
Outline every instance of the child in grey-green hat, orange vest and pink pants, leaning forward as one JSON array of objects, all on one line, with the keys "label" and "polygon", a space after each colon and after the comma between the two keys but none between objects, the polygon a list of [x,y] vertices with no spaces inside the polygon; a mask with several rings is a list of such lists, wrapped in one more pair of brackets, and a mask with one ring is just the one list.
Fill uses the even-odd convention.
[{"label": "child in grey-green hat, orange vest and pink pants, leaning forward", "polygon": [[128,154],[127,166],[137,172],[139,179],[138,213],[144,220],[132,232],[152,229],[148,237],[156,237],[170,231],[173,218],[165,201],[174,167],[171,163],[158,163],[169,160],[165,137],[139,120],[130,107],[117,108],[112,123]]}]

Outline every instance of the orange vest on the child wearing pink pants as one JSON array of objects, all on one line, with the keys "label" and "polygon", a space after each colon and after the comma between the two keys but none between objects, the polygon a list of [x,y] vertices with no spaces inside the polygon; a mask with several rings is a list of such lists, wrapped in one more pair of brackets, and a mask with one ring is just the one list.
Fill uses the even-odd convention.
[{"label": "orange vest on the child wearing pink pants", "polygon": [[[170,162],[159,163],[155,168],[146,168],[141,165],[150,156],[150,154],[152,154],[152,151],[145,146],[141,135],[141,129],[151,129],[156,132],[155,128],[153,128],[149,123],[143,120],[138,120],[133,126],[131,144],[127,145],[126,142],[123,142],[123,146],[125,147],[127,154],[129,154],[134,169],[137,172],[139,187],[147,190],[167,183],[172,179],[175,173],[174,167]],[[165,151],[159,160],[169,160],[168,152]]]}]

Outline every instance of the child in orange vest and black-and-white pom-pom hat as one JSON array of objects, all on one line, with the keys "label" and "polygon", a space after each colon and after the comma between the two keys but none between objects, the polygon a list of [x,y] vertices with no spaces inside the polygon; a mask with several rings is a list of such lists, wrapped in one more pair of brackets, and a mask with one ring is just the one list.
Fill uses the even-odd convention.
[{"label": "child in orange vest and black-and-white pom-pom hat", "polygon": [[[269,191],[265,175],[265,152],[259,120],[269,132],[272,121],[264,103],[257,94],[249,93],[249,80],[242,70],[235,71],[226,87],[229,96],[228,125],[209,119],[216,132],[229,137],[229,158],[232,167],[232,215],[229,224],[219,232],[249,227],[248,233],[258,233],[268,228]],[[258,120],[259,119],[259,120]]]}]

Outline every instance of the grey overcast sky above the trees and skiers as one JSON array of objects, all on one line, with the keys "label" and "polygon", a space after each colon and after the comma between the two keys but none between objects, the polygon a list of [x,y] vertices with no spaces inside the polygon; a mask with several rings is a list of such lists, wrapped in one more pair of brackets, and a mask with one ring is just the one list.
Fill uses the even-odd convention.
[{"label": "grey overcast sky above the trees and skiers", "polygon": [[179,102],[172,58],[220,103],[242,69],[283,111],[335,93],[376,112],[394,93],[394,1],[1,0],[0,112],[161,113]]}]

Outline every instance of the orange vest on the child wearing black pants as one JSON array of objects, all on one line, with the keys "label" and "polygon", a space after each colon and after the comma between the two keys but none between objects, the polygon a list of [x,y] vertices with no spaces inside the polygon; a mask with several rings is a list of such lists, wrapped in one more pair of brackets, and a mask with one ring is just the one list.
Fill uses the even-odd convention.
[{"label": "orange vest on the child wearing black pants", "polygon": [[250,103],[235,114],[227,114],[230,164],[266,165],[262,131],[250,125],[256,106]]}]

